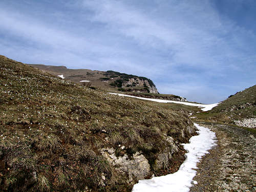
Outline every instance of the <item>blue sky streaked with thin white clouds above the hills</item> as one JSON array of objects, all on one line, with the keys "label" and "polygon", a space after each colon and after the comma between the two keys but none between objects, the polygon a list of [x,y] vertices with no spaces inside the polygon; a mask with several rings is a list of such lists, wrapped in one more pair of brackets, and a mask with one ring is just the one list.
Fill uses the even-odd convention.
[{"label": "blue sky streaked with thin white clouds above the hills", "polygon": [[215,103],[256,84],[254,0],[1,0],[0,54]]}]

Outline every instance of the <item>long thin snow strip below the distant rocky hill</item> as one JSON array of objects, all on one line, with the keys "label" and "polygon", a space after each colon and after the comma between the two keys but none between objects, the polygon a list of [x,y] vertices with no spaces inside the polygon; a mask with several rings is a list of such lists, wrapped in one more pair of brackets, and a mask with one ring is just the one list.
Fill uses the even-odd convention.
[{"label": "long thin snow strip below the distant rocky hill", "polygon": [[215,106],[217,106],[220,103],[214,103],[214,104],[197,104],[197,103],[189,103],[189,102],[181,102],[181,101],[170,101],[170,100],[163,100],[163,99],[151,99],[151,98],[144,98],[144,97],[136,97],[132,95],[124,95],[124,94],[119,94],[119,93],[110,93],[113,95],[119,95],[119,96],[125,96],[125,97],[133,97],[137,99],[143,99],[143,100],[149,100],[149,101],[155,101],[155,102],[160,102],[160,103],[179,103],[179,104],[185,104],[185,105],[190,105],[190,106],[197,106],[198,108],[201,108],[202,111],[209,111]]}]

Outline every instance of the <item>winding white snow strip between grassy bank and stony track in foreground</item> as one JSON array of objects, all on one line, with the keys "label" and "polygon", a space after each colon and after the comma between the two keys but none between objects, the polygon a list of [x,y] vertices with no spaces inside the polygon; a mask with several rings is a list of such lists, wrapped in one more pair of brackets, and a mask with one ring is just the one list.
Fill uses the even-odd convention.
[{"label": "winding white snow strip between grassy bank and stony track in foreground", "polygon": [[189,143],[183,144],[186,153],[186,160],[181,164],[180,169],[174,173],[161,177],[153,177],[148,180],[140,180],[133,187],[133,192],[188,192],[189,188],[196,184],[193,178],[196,176],[197,163],[208,153],[211,147],[216,145],[215,133],[208,128],[197,126],[198,134],[190,138]]}]

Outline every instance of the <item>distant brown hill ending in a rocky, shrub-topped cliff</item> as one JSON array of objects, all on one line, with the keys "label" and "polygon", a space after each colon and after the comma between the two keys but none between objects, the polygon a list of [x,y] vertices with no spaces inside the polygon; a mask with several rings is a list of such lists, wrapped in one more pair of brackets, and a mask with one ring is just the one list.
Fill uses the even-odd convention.
[{"label": "distant brown hill ending in a rocky, shrub-topped cliff", "polygon": [[[128,75],[115,71],[92,71],[89,69],[67,69],[65,66],[30,65],[53,75],[63,75],[65,79],[90,87],[100,87],[108,91],[127,91],[157,94],[157,88],[151,79]],[[90,81],[90,83],[88,82]]]}]

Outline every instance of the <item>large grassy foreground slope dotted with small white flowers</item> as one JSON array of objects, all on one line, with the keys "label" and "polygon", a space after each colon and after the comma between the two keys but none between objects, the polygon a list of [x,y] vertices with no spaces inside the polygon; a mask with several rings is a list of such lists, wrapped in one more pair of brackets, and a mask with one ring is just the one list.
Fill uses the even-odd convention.
[{"label": "large grassy foreground slope dotted with small white flowers", "polygon": [[130,191],[175,172],[183,113],[88,89],[0,56],[0,190]]}]

